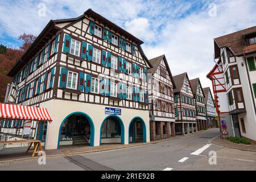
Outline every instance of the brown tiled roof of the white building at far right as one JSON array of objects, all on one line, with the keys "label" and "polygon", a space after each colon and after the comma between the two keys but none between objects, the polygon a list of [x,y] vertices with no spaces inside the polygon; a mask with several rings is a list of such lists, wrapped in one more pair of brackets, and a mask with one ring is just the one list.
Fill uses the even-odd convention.
[{"label": "brown tiled roof of the white building at far right", "polygon": [[256,52],[256,44],[248,46],[246,45],[245,40],[246,37],[251,36],[253,34],[256,34],[256,26],[215,38],[215,59],[220,57],[220,48],[222,47],[229,47],[230,50],[234,52],[236,56]]}]

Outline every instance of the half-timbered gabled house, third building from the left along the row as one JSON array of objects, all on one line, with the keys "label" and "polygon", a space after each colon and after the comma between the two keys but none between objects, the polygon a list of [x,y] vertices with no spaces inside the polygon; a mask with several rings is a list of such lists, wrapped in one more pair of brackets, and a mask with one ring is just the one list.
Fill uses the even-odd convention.
[{"label": "half-timbered gabled house, third building from the left along the row", "polygon": [[197,131],[196,102],[187,73],[174,76],[175,131],[189,134]]}]

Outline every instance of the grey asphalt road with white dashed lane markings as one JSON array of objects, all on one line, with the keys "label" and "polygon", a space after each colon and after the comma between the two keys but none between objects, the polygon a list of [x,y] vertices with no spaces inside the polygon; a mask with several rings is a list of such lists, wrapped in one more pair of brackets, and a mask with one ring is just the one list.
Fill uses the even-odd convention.
[{"label": "grey asphalt road with white dashed lane markings", "polygon": [[[256,170],[256,153],[210,144],[218,129],[155,144],[0,165],[0,170]],[[210,152],[210,153],[209,153]],[[210,158],[212,154],[216,158]],[[210,162],[216,162],[209,164]]]}]

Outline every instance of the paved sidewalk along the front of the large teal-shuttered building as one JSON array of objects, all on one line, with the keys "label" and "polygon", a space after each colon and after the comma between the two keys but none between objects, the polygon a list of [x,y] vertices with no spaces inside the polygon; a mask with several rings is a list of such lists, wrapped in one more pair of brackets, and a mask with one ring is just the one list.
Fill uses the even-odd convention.
[{"label": "paved sidewalk along the front of the large teal-shuttered building", "polygon": [[[196,133],[195,133],[196,134]],[[192,134],[191,134],[192,135]],[[130,143],[130,144],[102,144],[101,146],[67,146],[61,147],[57,150],[44,150],[46,152],[47,158],[58,157],[58,156],[65,156],[65,155],[77,155],[77,154],[85,154],[89,152],[100,152],[100,151],[108,151],[108,150],[117,150],[121,148],[127,147],[136,147],[136,146],[143,146],[146,144],[154,144],[159,142],[165,142],[168,140],[178,139],[182,137],[188,137],[190,135],[178,135],[176,137],[170,137],[160,140],[155,140],[148,143]],[[27,151],[27,147],[16,147],[16,148],[4,148],[0,150],[0,165],[7,164],[7,163],[16,163],[23,160],[35,160],[38,159],[40,156],[35,156],[34,158],[31,157],[32,150],[25,154]]]}]

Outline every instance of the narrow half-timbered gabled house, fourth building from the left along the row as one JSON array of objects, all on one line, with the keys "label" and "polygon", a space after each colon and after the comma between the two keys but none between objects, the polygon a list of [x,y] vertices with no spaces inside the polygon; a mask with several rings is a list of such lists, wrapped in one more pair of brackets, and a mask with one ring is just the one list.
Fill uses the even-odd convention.
[{"label": "narrow half-timbered gabled house, fourth building from the left along the row", "polygon": [[206,111],[205,111],[205,96],[203,92],[203,87],[199,78],[195,78],[190,80],[191,82],[191,89],[194,94],[196,100],[196,121],[197,121],[197,129],[203,130],[207,128],[207,118],[206,118]]}]

